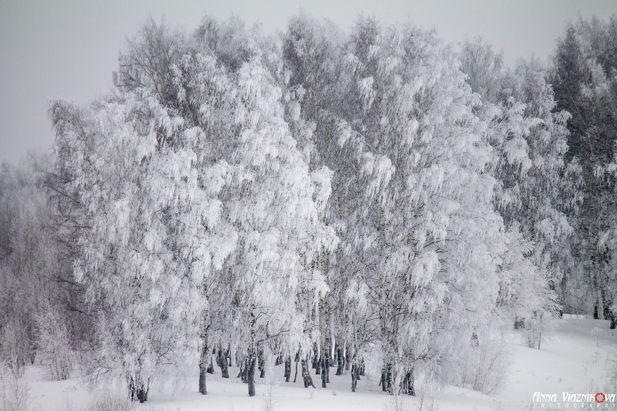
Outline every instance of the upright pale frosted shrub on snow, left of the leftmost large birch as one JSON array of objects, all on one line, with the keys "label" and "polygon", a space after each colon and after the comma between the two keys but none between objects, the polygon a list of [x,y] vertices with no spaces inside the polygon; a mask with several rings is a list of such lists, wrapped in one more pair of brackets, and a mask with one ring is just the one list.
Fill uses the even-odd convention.
[{"label": "upright pale frosted shrub on snow, left of the leftmost large birch", "polygon": [[36,353],[41,364],[48,368],[52,380],[66,380],[73,368],[72,352],[68,340],[68,327],[60,312],[49,301],[36,315],[38,328]]}]

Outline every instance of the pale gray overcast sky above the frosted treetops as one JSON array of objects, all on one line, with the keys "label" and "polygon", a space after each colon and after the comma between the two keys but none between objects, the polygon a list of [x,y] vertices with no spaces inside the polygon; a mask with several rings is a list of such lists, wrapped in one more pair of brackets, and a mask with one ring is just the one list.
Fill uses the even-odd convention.
[{"label": "pale gray overcast sky above the frosted treetops", "polygon": [[49,99],[86,104],[111,87],[118,52],[151,14],[187,30],[203,15],[236,14],[264,30],[283,29],[304,8],[349,28],[358,13],[382,22],[435,26],[445,41],[481,36],[513,63],[545,59],[568,20],[617,12],[615,0],[0,0],[0,161],[17,163],[31,149],[47,150],[53,133]]}]

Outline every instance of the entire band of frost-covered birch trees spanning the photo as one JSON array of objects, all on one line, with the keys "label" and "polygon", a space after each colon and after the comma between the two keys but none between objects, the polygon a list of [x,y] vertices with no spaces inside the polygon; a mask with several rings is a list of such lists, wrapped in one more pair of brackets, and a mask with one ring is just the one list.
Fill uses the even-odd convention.
[{"label": "entire band of frost-covered birch trees spanning the photo", "polygon": [[142,402],[214,363],[254,396],[268,353],[414,395],[508,328],[615,328],[615,30],[508,68],[375,18],[148,22],[114,94],[54,102],[52,155],[0,170],[0,359]]}]

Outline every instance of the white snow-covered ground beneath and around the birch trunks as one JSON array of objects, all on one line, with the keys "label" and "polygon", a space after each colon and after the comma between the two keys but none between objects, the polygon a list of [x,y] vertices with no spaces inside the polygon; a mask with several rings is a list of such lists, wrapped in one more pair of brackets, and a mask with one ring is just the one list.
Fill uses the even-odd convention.
[{"label": "white snow-covered ground beneath and around the birch trunks", "polygon": [[[597,328],[602,331],[598,332]],[[596,330],[594,331],[594,328]],[[608,321],[589,319],[560,320],[560,326],[552,340],[542,346],[542,349],[529,349],[521,343],[515,333],[510,335],[507,346],[511,354],[511,367],[508,381],[494,396],[487,396],[471,389],[450,387],[441,393],[420,395],[419,397],[404,397],[407,409],[412,411],[433,403],[433,408],[425,410],[466,411],[466,410],[529,410],[534,409],[534,393],[557,394],[557,403],[552,409],[581,409],[581,404],[574,407],[570,403],[566,407],[561,401],[562,393],[595,394],[606,389],[607,368],[611,357],[617,360],[617,330],[608,329]],[[265,381],[258,378],[257,396],[247,396],[246,385],[242,384],[236,367],[230,368],[228,380],[220,378],[217,373],[208,375],[207,396],[197,393],[197,378],[192,378],[193,386],[186,393],[161,393],[153,391],[146,404],[137,404],[137,410],[262,410],[266,387]],[[283,366],[276,367],[277,375],[283,375]],[[292,376],[294,364],[292,364]],[[34,409],[55,411],[64,409],[67,402],[73,405],[85,404],[96,396],[89,393],[76,378],[67,381],[48,381],[44,378],[42,367],[30,367],[27,378],[31,386],[31,401]],[[351,393],[350,376],[335,376],[331,370],[328,388],[308,388],[302,385],[300,372],[294,383],[285,383],[281,377],[276,388],[275,409],[281,411],[304,410],[388,410],[394,401],[392,396],[381,392],[378,386],[378,376],[367,376],[358,381],[358,392]],[[319,376],[313,375],[315,385],[320,387]],[[420,387],[420,391],[422,387]],[[420,393],[421,394],[421,393]],[[615,394],[615,393],[606,393]],[[424,397],[424,398],[423,398]],[[590,407],[592,405],[592,407]],[[582,409],[596,409],[600,404],[586,404]],[[550,402],[544,409],[549,409]],[[606,407],[605,407],[606,406]],[[541,409],[542,404],[536,404],[535,409]],[[403,408],[405,409],[405,408]],[[613,402],[605,402],[600,409],[613,410]]]}]

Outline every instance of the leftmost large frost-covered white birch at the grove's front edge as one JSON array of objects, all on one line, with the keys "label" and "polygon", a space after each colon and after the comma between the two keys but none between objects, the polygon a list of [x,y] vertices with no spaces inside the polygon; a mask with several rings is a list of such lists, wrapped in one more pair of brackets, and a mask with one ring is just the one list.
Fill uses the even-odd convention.
[{"label": "leftmost large frost-covered white birch at the grove's front edge", "polygon": [[233,238],[217,231],[217,187],[196,168],[199,134],[149,89],[94,103],[78,123],[66,115],[74,110],[57,102],[52,118],[88,222],[74,271],[97,321],[91,372],[126,378],[143,402],[151,383],[196,351],[201,289]]}]

